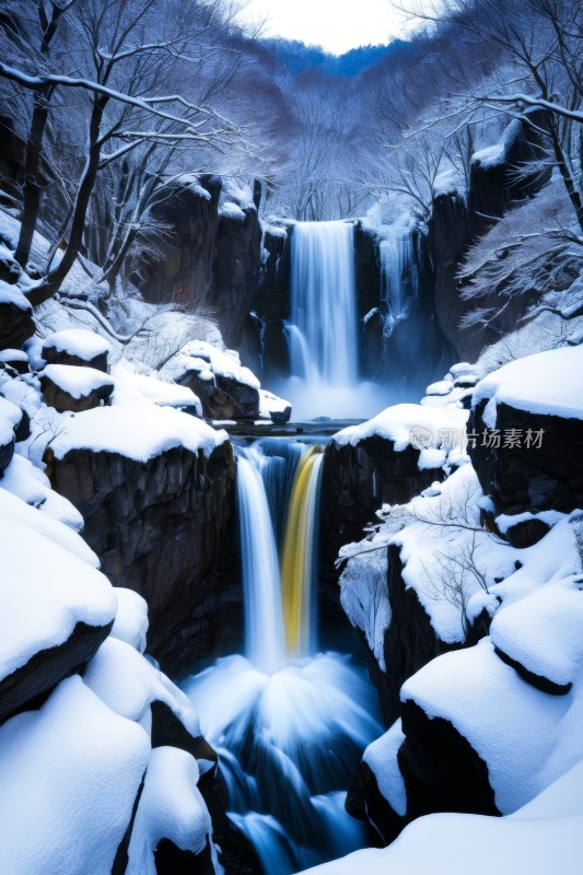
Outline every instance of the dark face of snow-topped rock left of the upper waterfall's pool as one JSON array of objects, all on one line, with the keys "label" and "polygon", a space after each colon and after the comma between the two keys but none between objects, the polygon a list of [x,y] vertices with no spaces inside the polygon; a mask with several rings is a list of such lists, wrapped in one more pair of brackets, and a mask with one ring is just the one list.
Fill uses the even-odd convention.
[{"label": "dark face of snow-topped rock left of the upper waterfall's pool", "polygon": [[202,380],[196,369],[186,371],[176,382],[200,398],[207,419],[259,419],[259,392],[247,383],[221,374]]}]

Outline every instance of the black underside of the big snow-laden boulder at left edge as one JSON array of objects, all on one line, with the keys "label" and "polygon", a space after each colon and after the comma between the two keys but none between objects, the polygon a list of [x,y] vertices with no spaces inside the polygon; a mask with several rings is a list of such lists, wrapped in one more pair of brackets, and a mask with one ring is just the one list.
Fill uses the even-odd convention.
[{"label": "black underside of the big snow-laden boulder at left edge", "polygon": [[79,672],[95,655],[112,630],[108,626],[78,622],[70,638],[42,650],[0,680],[0,723],[24,709],[39,708],[44,698],[69,675]]}]

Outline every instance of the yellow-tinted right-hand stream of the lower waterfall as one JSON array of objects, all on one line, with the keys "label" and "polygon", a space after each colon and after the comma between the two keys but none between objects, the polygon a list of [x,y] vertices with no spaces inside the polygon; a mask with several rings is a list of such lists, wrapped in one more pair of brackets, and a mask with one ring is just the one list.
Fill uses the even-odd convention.
[{"label": "yellow-tinted right-hand stream of the lower waterfall", "polygon": [[308,656],[316,648],[314,596],[317,586],[317,510],[323,458],[314,446],[303,454],[293,482],[285,526],[281,584],[285,648],[292,656]]}]

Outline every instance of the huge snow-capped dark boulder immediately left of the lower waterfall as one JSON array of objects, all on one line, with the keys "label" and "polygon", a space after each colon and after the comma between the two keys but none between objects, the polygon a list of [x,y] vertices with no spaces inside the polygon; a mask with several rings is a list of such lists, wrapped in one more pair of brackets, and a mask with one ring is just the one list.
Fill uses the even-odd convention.
[{"label": "huge snow-capped dark boulder immediately left of the lower waterfall", "polygon": [[44,438],[47,474],[82,514],[109,580],[145,598],[150,652],[166,667],[202,656],[207,640],[188,630],[206,622],[213,570],[234,542],[226,433],[136,399],[55,416]]}]

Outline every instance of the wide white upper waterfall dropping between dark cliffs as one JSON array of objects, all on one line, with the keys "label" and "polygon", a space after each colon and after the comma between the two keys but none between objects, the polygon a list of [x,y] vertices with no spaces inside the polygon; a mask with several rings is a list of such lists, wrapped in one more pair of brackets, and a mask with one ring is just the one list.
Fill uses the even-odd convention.
[{"label": "wide white upper waterfall dropping between dark cliffs", "polygon": [[291,246],[292,368],[295,376],[333,386],[358,378],[354,226],[299,222]]}]

